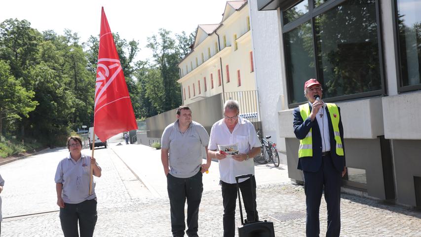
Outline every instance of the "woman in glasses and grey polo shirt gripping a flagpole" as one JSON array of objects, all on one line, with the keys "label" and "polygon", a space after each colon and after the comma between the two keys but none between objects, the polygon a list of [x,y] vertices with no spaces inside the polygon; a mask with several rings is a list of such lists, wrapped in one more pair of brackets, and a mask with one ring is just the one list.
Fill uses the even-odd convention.
[{"label": "woman in glasses and grey polo shirt gripping a flagpole", "polygon": [[82,140],[77,136],[67,139],[70,154],[62,159],[55,175],[57,205],[60,207],[60,223],[65,237],[92,237],[97,221],[95,182],[89,194],[90,169],[101,177],[101,167],[95,158],[81,153]]}]

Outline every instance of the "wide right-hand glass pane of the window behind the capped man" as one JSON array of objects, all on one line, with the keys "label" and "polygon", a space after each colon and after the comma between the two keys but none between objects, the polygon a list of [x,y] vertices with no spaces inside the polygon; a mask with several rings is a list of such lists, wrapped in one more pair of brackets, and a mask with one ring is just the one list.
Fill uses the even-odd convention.
[{"label": "wide right-hand glass pane of the window behind the capped man", "polygon": [[348,0],[314,18],[323,97],[382,88],[375,0]]}]

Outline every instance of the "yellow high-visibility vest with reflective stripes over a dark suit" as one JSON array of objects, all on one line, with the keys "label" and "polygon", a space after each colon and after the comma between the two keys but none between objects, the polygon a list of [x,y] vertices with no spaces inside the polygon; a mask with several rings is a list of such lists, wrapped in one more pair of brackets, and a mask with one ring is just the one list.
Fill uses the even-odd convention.
[{"label": "yellow high-visibility vest with reflective stripes over a dark suit", "polygon": [[[336,141],[336,154],[338,156],[344,156],[344,146],[342,145],[341,133],[339,131],[339,110],[338,106],[333,103],[325,103],[330,114],[330,121],[332,122],[333,132],[335,134]],[[310,115],[310,106],[308,103],[300,105],[300,114],[303,121]],[[298,149],[298,158],[312,157],[313,156],[313,140],[311,138],[311,130],[307,133],[304,139],[300,140],[300,147]]]}]

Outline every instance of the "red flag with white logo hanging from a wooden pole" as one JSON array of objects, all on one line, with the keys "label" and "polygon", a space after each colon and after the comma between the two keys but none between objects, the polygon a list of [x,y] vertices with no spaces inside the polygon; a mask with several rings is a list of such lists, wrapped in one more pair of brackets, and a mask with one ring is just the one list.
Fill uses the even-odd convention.
[{"label": "red flag with white logo hanging from a wooden pole", "polygon": [[95,83],[94,127],[95,134],[101,141],[120,132],[137,129],[132,103],[104,7],[101,13]]}]

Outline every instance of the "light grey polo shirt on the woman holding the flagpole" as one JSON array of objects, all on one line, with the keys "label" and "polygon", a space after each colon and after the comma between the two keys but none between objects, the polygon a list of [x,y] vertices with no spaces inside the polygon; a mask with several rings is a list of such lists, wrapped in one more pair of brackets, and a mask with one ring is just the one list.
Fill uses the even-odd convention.
[{"label": "light grey polo shirt on the woman holding the flagpole", "polygon": [[[99,167],[99,166],[98,166]],[[92,181],[92,194],[89,195],[91,157],[83,155],[75,161],[69,153],[60,160],[54,181],[63,184],[61,197],[65,203],[77,204],[96,198],[95,181]]]}]

